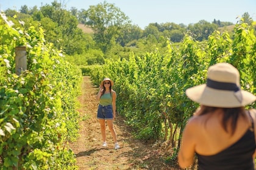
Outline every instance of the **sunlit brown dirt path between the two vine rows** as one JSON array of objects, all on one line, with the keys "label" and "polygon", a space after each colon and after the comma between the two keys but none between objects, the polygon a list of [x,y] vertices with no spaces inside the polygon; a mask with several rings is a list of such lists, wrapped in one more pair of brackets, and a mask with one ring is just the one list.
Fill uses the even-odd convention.
[{"label": "sunlit brown dirt path between the two vine rows", "polygon": [[82,89],[82,95],[79,97],[80,137],[75,143],[71,143],[79,169],[177,169],[165,164],[166,155],[164,156],[159,145],[134,139],[130,128],[118,114],[114,126],[120,149],[113,149],[114,144],[108,127],[108,148],[103,148],[101,129],[96,119],[98,88],[91,84],[90,77],[84,77]]}]

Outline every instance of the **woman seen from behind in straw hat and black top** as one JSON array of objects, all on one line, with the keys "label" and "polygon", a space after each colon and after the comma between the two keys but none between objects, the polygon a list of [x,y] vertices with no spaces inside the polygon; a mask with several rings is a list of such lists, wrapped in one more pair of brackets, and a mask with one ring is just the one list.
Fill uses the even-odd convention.
[{"label": "woman seen from behind in straw hat and black top", "polygon": [[183,132],[178,160],[181,168],[197,155],[201,169],[254,169],[255,95],[240,89],[238,70],[228,63],[210,66],[207,83],[191,87],[186,95],[201,104]]}]

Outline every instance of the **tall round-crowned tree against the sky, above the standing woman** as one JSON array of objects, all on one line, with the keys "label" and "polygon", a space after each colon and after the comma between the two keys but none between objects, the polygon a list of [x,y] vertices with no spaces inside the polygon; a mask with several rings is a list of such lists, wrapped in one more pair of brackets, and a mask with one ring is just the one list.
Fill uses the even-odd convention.
[{"label": "tall round-crowned tree against the sky, above the standing woman", "polygon": [[102,52],[106,53],[120,34],[124,25],[130,23],[129,18],[114,4],[106,1],[91,5],[84,11],[85,24],[94,32],[94,40]]}]

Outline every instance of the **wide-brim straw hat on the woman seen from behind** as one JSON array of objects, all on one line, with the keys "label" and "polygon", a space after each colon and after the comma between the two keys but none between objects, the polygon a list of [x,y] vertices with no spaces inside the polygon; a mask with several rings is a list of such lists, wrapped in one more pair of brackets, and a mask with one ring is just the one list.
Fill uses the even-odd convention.
[{"label": "wide-brim straw hat on the woman seen from behind", "polygon": [[229,63],[208,68],[207,83],[186,90],[192,101],[212,107],[242,107],[253,103],[255,95],[240,89],[240,74]]}]

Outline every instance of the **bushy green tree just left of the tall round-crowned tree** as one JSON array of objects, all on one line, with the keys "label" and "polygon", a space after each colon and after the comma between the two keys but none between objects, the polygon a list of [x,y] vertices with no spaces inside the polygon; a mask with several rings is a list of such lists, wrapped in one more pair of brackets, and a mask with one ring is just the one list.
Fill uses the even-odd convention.
[{"label": "bushy green tree just left of the tall round-crowned tree", "polygon": [[46,39],[53,42],[54,45],[62,49],[68,55],[81,54],[85,50],[84,36],[82,30],[77,25],[78,21],[73,13],[63,9],[63,5],[57,1],[52,2],[52,5],[44,5],[40,12],[43,15],[41,21],[46,29]]}]

